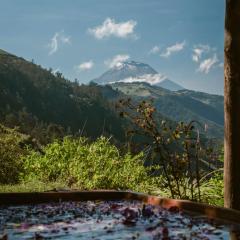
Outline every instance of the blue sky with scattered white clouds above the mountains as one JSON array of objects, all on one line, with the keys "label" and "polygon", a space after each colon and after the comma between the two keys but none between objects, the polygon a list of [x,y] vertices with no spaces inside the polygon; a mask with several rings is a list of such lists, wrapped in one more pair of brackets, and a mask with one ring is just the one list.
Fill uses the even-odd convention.
[{"label": "blue sky with scattered white clouds above the mountains", "polygon": [[0,48],[87,83],[112,61],[148,63],[223,93],[224,0],[0,0]]}]

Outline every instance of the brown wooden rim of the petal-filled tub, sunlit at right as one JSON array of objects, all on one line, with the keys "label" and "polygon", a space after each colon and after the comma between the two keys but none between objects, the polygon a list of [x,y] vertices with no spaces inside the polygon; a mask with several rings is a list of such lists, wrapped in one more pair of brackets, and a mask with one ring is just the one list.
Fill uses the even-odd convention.
[{"label": "brown wooden rim of the petal-filled tub, sunlit at right", "polygon": [[0,206],[86,200],[139,200],[148,204],[159,205],[164,208],[178,207],[180,210],[192,212],[197,215],[203,215],[210,219],[240,224],[240,211],[186,200],[174,200],[150,196],[131,191],[96,190],[0,193]]}]

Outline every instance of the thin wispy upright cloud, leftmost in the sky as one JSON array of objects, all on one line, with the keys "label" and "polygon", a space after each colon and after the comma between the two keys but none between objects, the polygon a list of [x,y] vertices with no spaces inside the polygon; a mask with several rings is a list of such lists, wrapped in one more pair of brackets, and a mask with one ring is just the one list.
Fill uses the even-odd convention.
[{"label": "thin wispy upright cloud, leftmost in the sky", "polygon": [[64,31],[56,32],[51,38],[50,43],[48,44],[49,55],[56,53],[59,49],[60,44],[70,44],[70,36],[65,36]]}]

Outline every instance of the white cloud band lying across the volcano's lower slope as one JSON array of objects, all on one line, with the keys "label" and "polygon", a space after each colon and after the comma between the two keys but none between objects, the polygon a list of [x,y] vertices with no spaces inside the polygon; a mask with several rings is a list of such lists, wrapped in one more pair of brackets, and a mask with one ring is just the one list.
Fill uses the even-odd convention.
[{"label": "white cloud band lying across the volcano's lower slope", "polygon": [[[144,74],[139,77],[129,77],[122,79],[118,82],[125,82],[125,83],[133,83],[133,82],[147,82],[151,85],[157,84],[162,82],[163,80],[167,79],[167,77],[163,74]],[[114,82],[112,82],[114,83]]]}]

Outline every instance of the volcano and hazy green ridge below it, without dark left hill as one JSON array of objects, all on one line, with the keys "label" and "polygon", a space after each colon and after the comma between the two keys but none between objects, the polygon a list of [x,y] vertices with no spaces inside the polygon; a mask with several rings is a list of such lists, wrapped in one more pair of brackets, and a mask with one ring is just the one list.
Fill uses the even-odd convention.
[{"label": "volcano and hazy green ridge below it, without dark left hill", "polygon": [[154,99],[157,110],[174,121],[195,120],[211,137],[223,137],[223,96],[185,89],[145,63],[126,61],[93,80],[137,100]]}]

